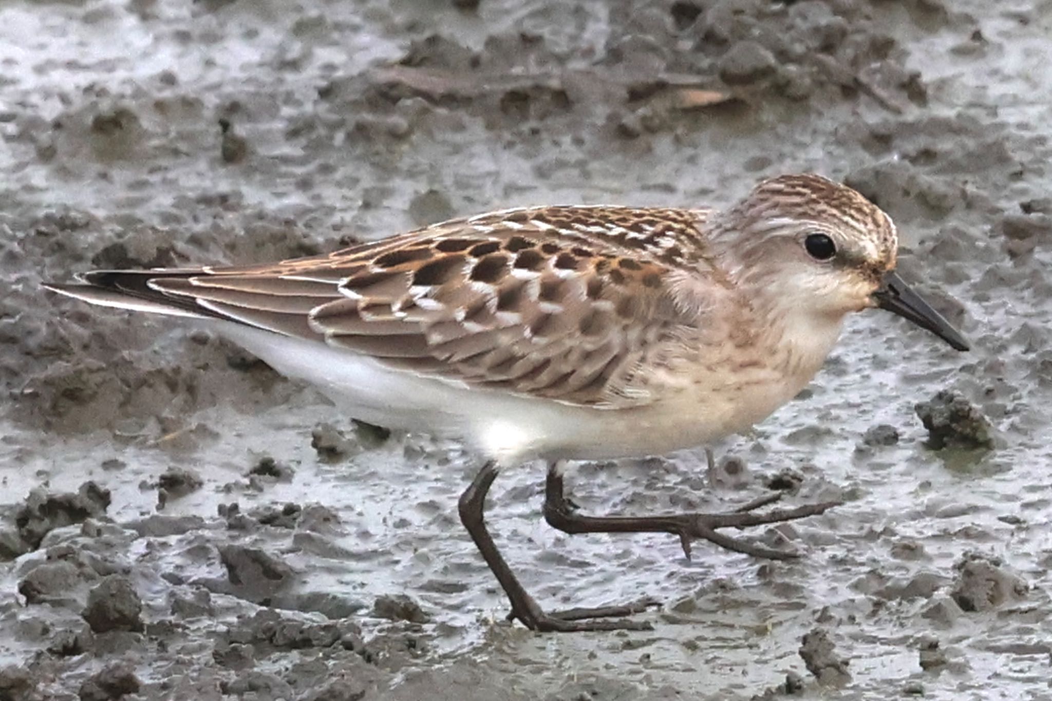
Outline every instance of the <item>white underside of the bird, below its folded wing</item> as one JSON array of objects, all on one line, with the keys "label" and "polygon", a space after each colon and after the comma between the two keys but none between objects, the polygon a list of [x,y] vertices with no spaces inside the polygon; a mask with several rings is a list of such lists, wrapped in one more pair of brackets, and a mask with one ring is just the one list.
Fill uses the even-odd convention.
[{"label": "white underside of the bird, below its folded wing", "polygon": [[571,407],[390,370],[366,356],[242,325],[215,328],[278,372],[318,386],[347,418],[463,438],[503,465],[666,454],[746,428],[777,406],[745,425],[737,403],[696,395],[640,409]]}]

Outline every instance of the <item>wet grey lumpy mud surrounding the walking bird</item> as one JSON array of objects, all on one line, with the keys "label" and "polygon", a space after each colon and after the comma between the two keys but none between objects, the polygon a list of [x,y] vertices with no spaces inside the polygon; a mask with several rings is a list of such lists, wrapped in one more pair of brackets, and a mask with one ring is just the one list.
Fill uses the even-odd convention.
[{"label": "wet grey lumpy mud surrounding the walking bird", "polygon": [[[1052,696],[1052,7],[459,5],[0,8],[0,697]],[[648,634],[504,623],[456,445],[382,439],[217,338],[38,287],[518,204],[720,205],[797,170],[892,214],[974,350],[868,314],[715,472],[699,452],[569,477],[594,513],[725,510],[774,478],[845,499],[755,534],[797,561],[570,538],[542,466],[502,474],[491,523],[527,586],[655,596]],[[914,405],[942,390],[993,449],[931,448]]]}]

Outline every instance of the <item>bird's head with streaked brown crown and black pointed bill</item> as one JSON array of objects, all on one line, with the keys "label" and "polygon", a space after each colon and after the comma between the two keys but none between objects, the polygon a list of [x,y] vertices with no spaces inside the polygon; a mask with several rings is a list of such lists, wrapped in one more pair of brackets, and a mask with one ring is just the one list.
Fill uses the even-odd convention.
[{"label": "bird's head with streaked brown crown and black pointed bill", "polygon": [[813,174],[766,180],[715,218],[712,241],[735,284],[762,290],[776,313],[838,328],[849,312],[878,307],[968,350],[895,272],[891,218],[850,187]]}]

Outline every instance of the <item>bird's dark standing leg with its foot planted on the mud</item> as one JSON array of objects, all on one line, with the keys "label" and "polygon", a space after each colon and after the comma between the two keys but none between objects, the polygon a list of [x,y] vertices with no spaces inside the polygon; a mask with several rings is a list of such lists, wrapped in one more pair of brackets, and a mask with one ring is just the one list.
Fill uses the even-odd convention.
[{"label": "bird's dark standing leg with its foot planted on the mud", "polygon": [[504,593],[508,595],[508,599],[511,601],[511,614],[509,614],[508,618],[518,618],[531,631],[575,632],[652,630],[652,626],[647,622],[628,620],[584,620],[627,616],[629,614],[640,613],[647,606],[653,605],[653,603],[649,601],[628,606],[573,609],[562,613],[544,613],[537,601],[533,600],[533,597],[527,594],[526,590],[523,589],[523,585],[519,583],[519,579],[511,572],[508,563],[504,561],[504,557],[502,557],[501,553],[497,550],[497,544],[493,542],[492,536],[489,535],[489,531],[486,529],[486,521],[483,518],[483,508],[486,500],[486,493],[489,492],[489,487],[493,483],[493,479],[497,477],[497,465],[492,461],[487,462],[482,470],[479,471],[479,474],[476,475],[471,484],[464,490],[464,494],[461,495],[458,506],[460,510],[461,522],[471,535],[471,539],[474,540],[474,544],[478,545],[479,552],[482,553],[483,559],[486,560],[486,564],[489,565],[489,569],[497,577],[497,580],[501,582]]}]

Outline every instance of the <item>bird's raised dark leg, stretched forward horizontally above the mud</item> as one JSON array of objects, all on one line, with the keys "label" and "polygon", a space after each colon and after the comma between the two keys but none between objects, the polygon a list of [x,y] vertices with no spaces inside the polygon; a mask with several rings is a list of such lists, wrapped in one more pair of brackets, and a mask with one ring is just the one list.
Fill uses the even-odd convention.
[{"label": "bird's raised dark leg, stretched forward horizontally above the mud", "polygon": [[839,501],[824,501],[796,509],[775,509],[766,514],[750,513],[753,509],[777,501],[778,496],[762,497],[728,514],[665,514],[660,516],[584,516],[576,513],[563,494],[563,475],[555,465],[548,469],[544,493],[544,518],[550,525],[565,533],[671,533],[680,536],[683,552],[690,559],[690,541],[704,538],[709,542],[755,557],[786,560],[798,553],[771,550],[732,538],[716,529],[777,523],[821,514],[838,507]]}]

